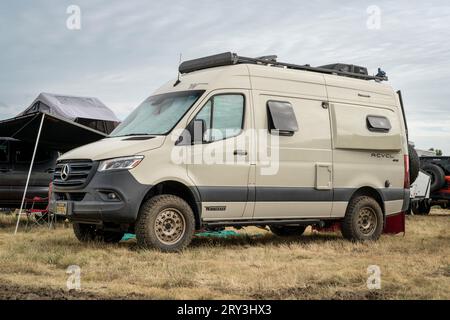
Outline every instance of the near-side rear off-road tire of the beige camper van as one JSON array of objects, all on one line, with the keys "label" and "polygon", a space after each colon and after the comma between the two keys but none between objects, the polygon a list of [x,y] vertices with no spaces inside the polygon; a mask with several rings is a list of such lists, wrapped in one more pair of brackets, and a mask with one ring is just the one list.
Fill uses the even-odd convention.
[{"label": "near-side rear off-road tire of the beige camper van", "polygon": [[[369,231],[364,232],[364,217],[370,216]],[[352,199],[342,221],[341,232],[351,241],[378,240],[383,232],[383,212],[378,202],[368,196]]]}]

